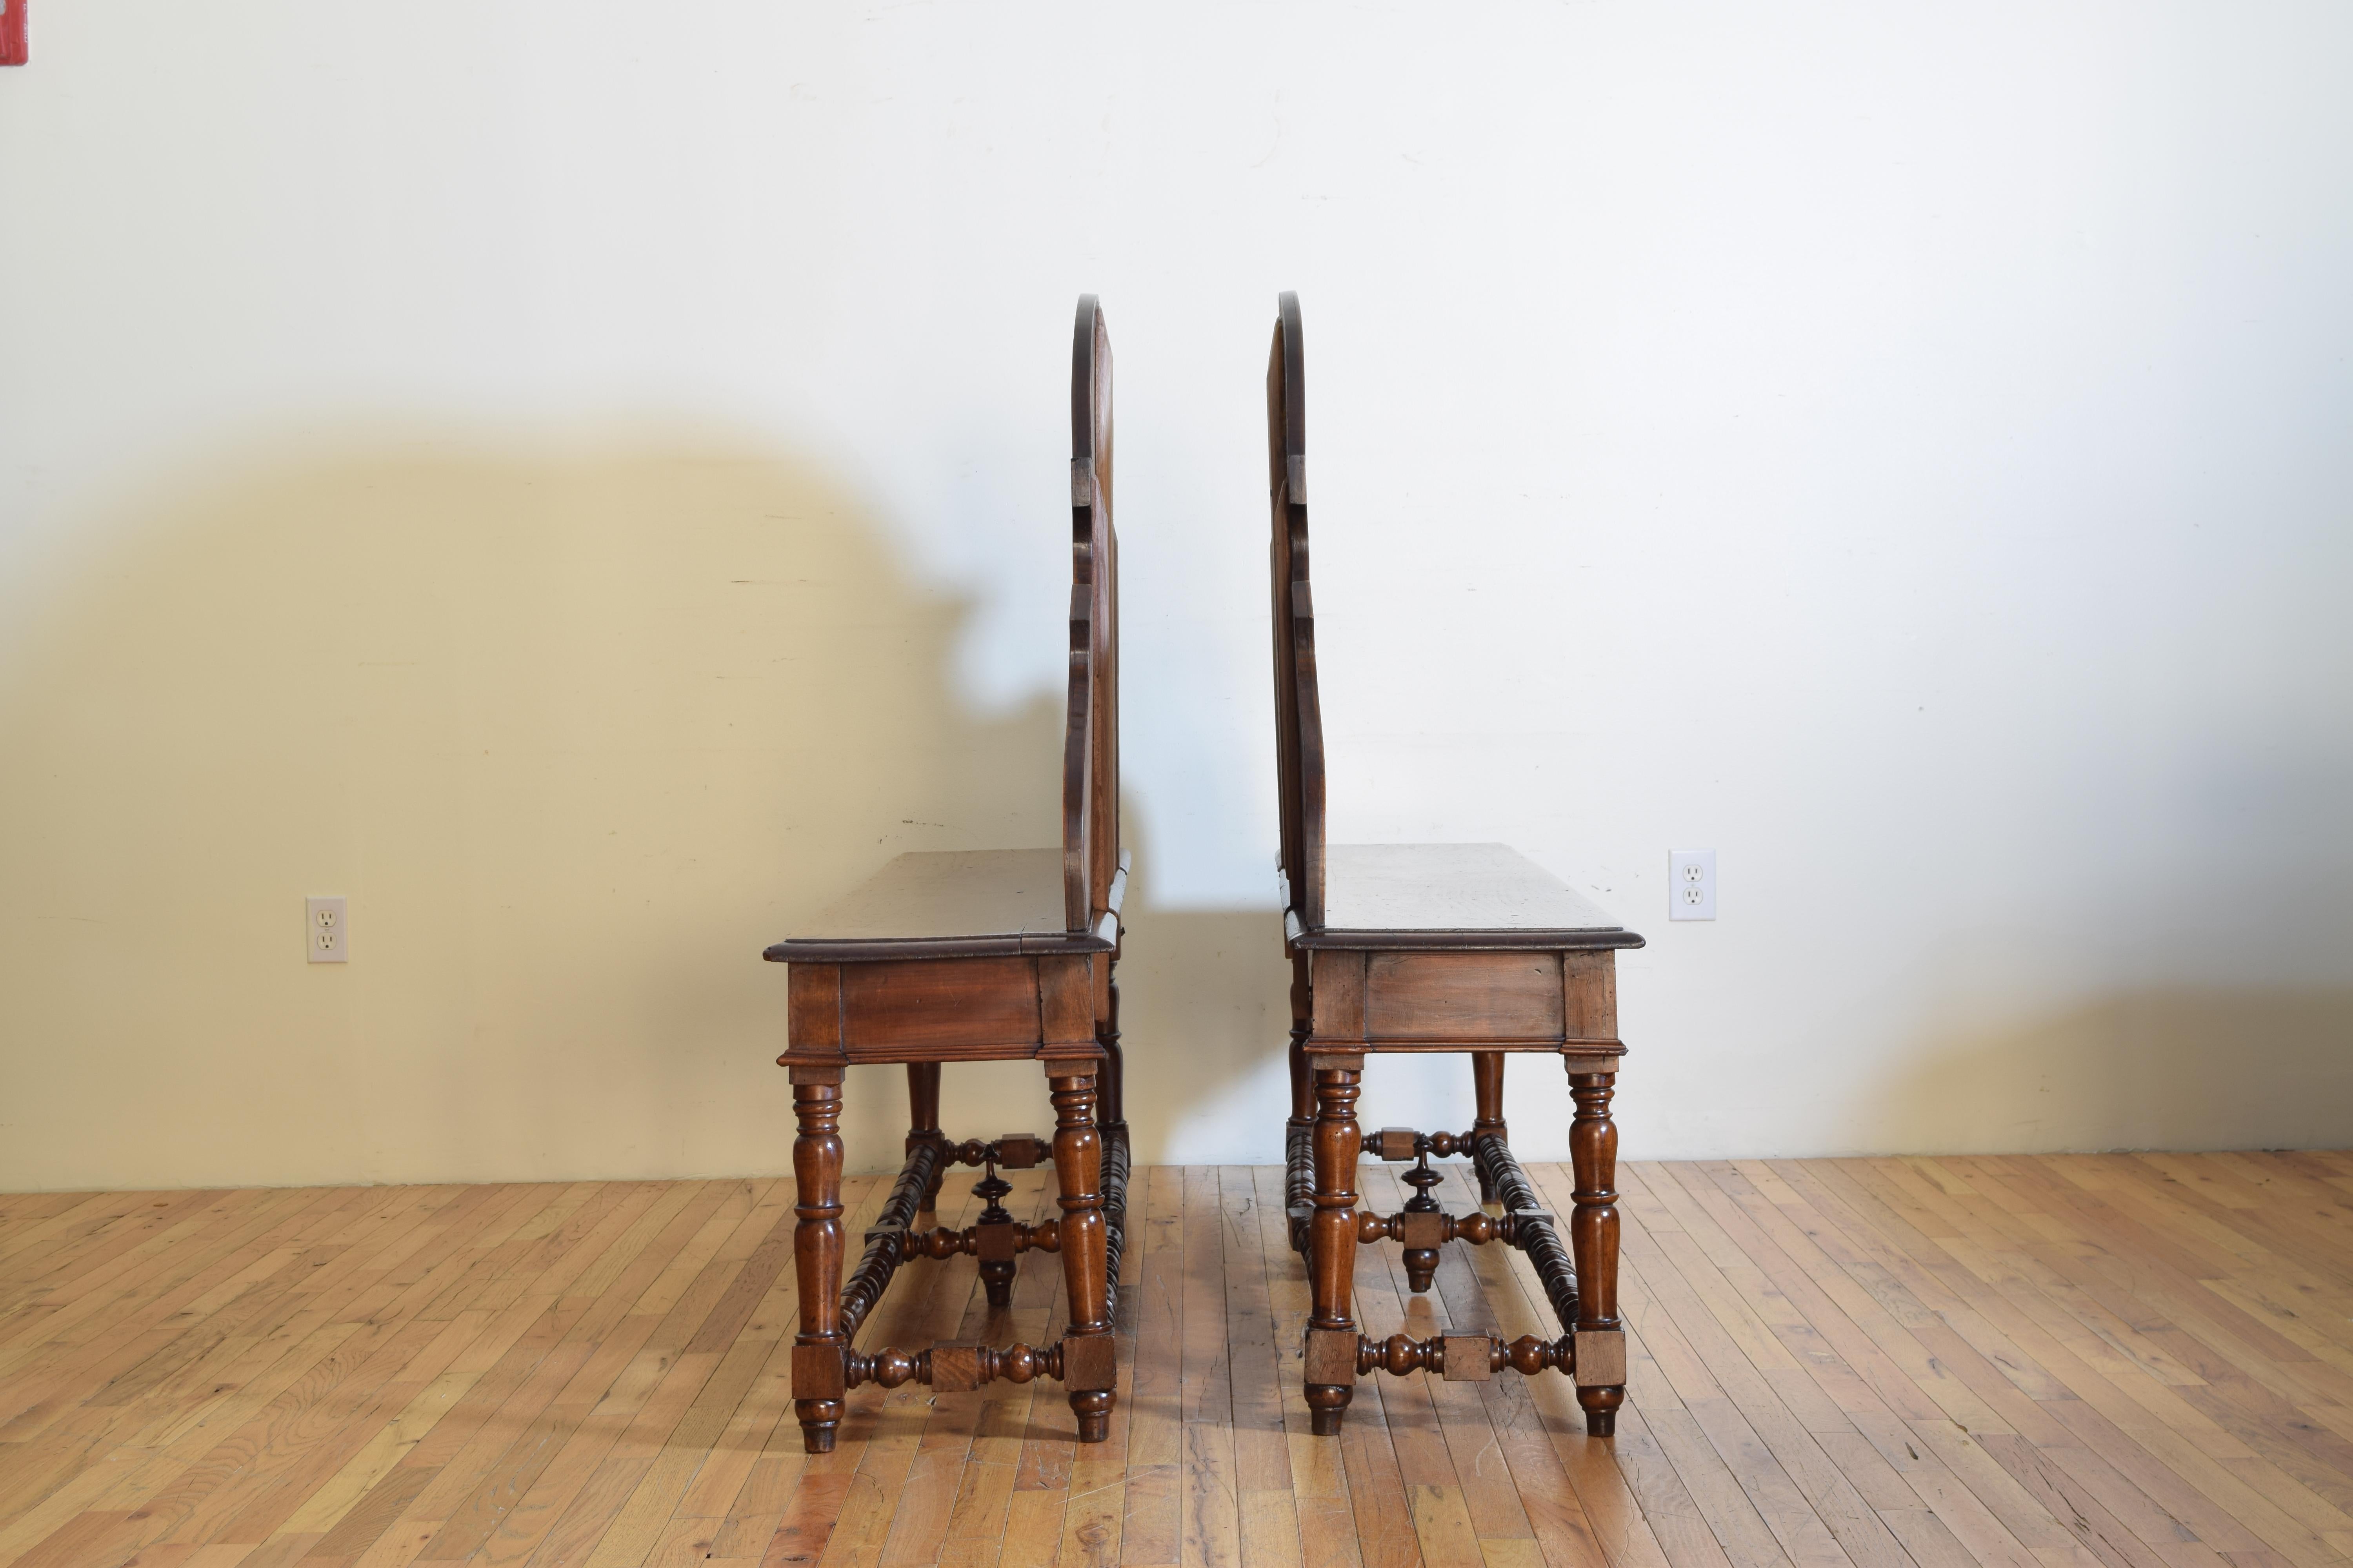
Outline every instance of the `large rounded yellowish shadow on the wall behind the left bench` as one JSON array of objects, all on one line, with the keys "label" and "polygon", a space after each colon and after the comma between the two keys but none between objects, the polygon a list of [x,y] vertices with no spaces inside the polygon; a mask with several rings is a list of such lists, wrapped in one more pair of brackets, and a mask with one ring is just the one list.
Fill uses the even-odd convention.
[{"label": "large rounded yellowish shadow on the wall behind the left bench", "polygon": [[[807,463],[346,444],[101,524],[0,670],[0,1187],[786,1171],[760,947],[899,851],[1056,842],[1059,691],[960,705],[967,607]],[[1249,1048],[1169,940],[1221,919],[1134,912],[1129,1041]],[[1136,1072],[1139,1154],[1195,1084]],[[852,1074],[852,1168],[904,1103]]]}]

